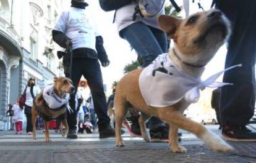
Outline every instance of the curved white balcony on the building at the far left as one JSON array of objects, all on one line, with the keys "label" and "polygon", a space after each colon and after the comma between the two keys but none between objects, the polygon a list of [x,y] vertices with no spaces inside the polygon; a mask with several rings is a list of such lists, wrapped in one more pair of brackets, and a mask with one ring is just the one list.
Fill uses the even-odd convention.
[{"label": "curved white balcony on the building at the far left", "polygon": [[21,46],[21,40],[19,37],[19,34],[14,30],[13,25],[11,25],[9,22],[4,20],[0,16],[0,31],[4,31],[10,38],[12,38],[18,46]]}]

